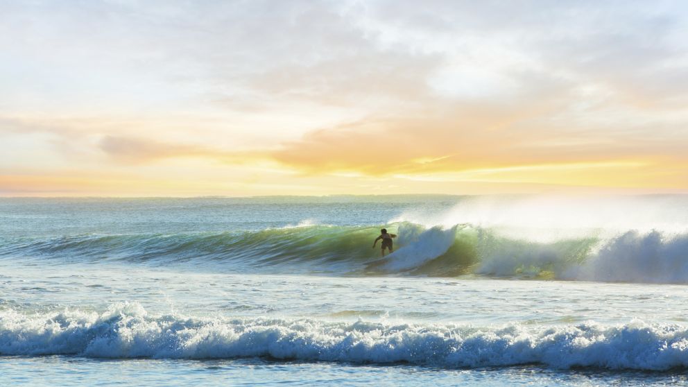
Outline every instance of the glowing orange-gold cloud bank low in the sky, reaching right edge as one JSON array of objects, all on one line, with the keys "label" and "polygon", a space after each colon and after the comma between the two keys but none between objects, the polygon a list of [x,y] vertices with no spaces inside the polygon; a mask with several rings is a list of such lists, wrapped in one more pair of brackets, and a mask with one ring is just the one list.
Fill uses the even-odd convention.
[{"label": "glowing orange-gold cloud bank low in the sky, reaching right edge", "polygon": [[[669,181],[681,185],[680,178],[687,177],[680,165],[687,162],[682,149],[688,135],[678,130],[680,126],[647,123],[643,128],[617,130],[595,122],[555,126],[549,117],[559,109],[558,104],[522,104],[511,110],[495,107],[368,119],[310,132],[268,155],[309,174],[440,173],[447,179],[485,181],[528,181],[530,176],[532,182],[564,183],[568,178],[571,184],[653,181],[657,186]],[[666,173],[665,182],[657,172]]]}]

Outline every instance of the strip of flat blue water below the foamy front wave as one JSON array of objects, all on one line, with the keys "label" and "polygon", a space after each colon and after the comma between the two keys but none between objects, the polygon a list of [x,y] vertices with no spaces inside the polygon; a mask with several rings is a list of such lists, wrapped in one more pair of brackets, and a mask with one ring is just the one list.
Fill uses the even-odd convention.
[{"label": "strip of flat blue water below the foamy front wave", "polygon": [[0,357],[3,381],[61,386],[684,386],[681,372],[556,371],[537,367],[437,370],[411,365],[352,365],[230,360],[101,360],[72,356]]}]

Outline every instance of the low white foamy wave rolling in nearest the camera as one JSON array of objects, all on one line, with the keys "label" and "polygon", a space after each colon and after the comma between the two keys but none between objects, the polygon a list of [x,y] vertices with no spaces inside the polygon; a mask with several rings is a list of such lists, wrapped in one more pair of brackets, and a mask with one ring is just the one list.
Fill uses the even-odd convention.
[{"label": "low white foamy wave rolling in nearest the camera", "polygon": [[0,311],[0,355],[410,363],[442,368],[540,364],[688,368],[688,330],[678,325],[472,327],[270,318],[150,316],[140,304],[105,313]]}]

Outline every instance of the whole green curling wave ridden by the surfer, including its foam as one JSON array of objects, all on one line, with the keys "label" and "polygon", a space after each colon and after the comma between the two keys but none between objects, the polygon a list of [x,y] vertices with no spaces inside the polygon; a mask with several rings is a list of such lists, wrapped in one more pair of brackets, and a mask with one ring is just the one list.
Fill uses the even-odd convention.
[{"label": "whole green curling wave ridden by the surfer, including its foam", "polygon": [[[688,234],[589,232],[553,241],[474,225],[390,225],[395,252],[370,248],[380,227],[300,225],[254,232],[79,235],[0,239],[4,259],[191,264],[239,272],[485,275],[605,282],[688,283]],[[536,239],[536,238],[534,238]]]}]

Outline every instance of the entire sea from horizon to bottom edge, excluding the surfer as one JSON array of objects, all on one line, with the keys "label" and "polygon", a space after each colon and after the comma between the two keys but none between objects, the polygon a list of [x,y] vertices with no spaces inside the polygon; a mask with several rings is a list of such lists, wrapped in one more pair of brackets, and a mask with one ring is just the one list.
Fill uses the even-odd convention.
[{"label": "entire sea from horizon to bottom edge, excluding the surfer", "polygon": [[687,285],[688,196],[2,198],[0,385],[685,385]]}]

